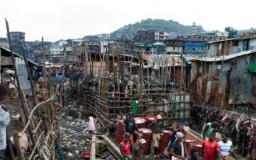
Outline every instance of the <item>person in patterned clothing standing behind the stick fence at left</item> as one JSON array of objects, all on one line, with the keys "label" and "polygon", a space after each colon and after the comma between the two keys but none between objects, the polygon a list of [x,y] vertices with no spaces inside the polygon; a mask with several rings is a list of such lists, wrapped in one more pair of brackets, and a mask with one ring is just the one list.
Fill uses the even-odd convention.
[{"label": "person in patterned clothing standing behind the stick fence at left", "polygon": [[[44,100],[47,100],[47,92],[45,90],[45,81],[43,77],[40,77],[38,79],[39,82],[39,86],[38,88],[36,88],[36,100],[38,102],[43,102]],[[40,115],[42,116],[42,119],[45,120],[47,114],[46,114],[46,106],[44,104],[42,104],[40,107]]]}]

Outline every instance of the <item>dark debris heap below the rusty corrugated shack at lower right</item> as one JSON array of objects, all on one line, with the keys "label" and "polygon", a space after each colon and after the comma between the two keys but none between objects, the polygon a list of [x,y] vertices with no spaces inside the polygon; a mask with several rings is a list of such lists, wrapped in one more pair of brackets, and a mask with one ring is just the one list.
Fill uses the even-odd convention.
[{"label": "dark debris heap below the rusty corrugated shack at lower right", "polygon": [[218,108],[211,106],[192,109],[194,117],[192,129],[202,131],[202,126],[207,122],[217,121],[220,123],[220,128],[216,132],[228,133],[234,144],[236,153],[242,156],[253,155],[256,146],[256,118],[252,118],[252,113],[246,111],[220,111]]}]

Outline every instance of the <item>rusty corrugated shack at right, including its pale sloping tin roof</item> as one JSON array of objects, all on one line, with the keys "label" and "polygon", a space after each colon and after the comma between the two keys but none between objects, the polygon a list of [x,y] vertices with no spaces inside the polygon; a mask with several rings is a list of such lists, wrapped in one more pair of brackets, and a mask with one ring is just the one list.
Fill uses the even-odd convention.
[{"label": "rusty corrugated shack at right, including its pale sloping tin roof", "polygon": [[193,90],[200,101],[232,108],[256,108],[256,50],[193,60]]}]

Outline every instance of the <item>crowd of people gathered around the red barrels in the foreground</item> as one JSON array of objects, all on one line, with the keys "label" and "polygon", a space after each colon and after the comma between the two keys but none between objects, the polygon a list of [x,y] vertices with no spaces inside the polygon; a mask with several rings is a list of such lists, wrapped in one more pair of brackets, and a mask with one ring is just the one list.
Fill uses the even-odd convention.
[{"label": "crowd of people gathered around the red barrels in the foreground", "polygon": [[[149,124],[148,129],[152,131],[152,141],[154,145],[153,156],[154,159],[160,157],[159,153],[159,141],[161,139],[161,131],[164,129],[164,124],[161,115],[156,116],[156,121]],[[228,134],[222,133],[221,140],[216,141],[215,129],[218,127],[217,122],[208,123],[203,131],[204,141],[202,143],[202,152],[196,150],[196,148],[190,148],[190,152],[186,148],[186,131],[177,123],[172,126],[172,135],[170,137],[170,142],[166,146],[172,160],[189,159],[189,160],[215,160],[215,159],[230,159],[230,156],[237,159],[236,154],[234,154],[234,147],[232,141],[228,140]],[[124,120],[124,139],[120,143],[120,152],[124,156],[125,160],[143,159],[143,148],[145,148],[146,143],[151,143],[151,141],[146,141],[141,139],[142,132],[134,134],[134,131],[138,132],[135,120],[132,118],[132,113],[129,113],[127,118]],[[136,141],[134,143],[134,141]],[[202,157],[200,157],[202,156]]]}]

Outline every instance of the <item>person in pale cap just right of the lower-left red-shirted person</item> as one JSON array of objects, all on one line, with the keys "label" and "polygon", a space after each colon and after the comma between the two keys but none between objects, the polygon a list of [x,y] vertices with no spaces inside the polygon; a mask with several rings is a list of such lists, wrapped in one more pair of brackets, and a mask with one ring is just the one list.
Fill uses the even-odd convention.
[{"label": "person in pale cap just right of the lower-left red-shirted person", "polygon": [[147,141],[141,138],[134,143],[132,148],[132,160],[143,160],[143,148],[146,147]]}]

